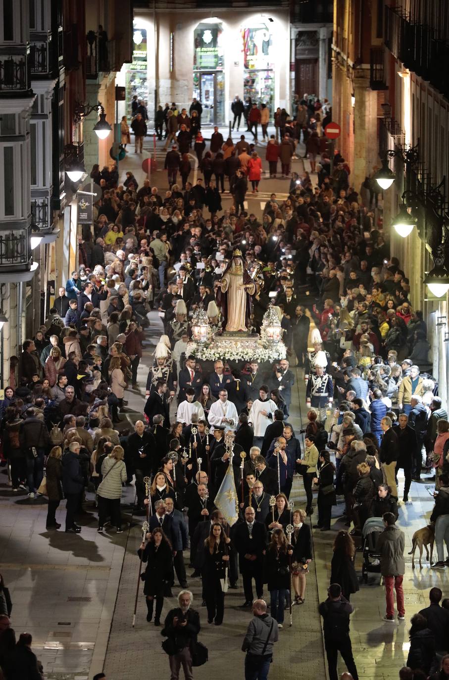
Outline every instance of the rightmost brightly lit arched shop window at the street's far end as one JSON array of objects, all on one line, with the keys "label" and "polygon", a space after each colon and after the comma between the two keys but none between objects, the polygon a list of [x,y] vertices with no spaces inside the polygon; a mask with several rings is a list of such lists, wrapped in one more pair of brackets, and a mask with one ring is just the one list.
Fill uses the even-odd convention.
[{"label": "rightmost brightly lit arched shop window at the street's far end", "polygon": [[244,52],[244,99],[265,103],[273,112],[274,55],[269,28],[259,24],[242,29]]}]

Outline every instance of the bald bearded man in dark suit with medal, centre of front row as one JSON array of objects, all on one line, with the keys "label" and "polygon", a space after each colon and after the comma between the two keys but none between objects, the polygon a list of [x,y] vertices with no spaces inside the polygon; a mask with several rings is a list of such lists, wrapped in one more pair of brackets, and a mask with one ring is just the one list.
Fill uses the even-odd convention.
[{"label": "bald bearded man in dark suit with medal, centre of front row", "polygon": [[245,521],[237,524],[234,541],[244,583],[245,602],[242,607],[251,607],[254,600],[252,579],[256,584],[257,598],[263,596],[263,554],[267,542],[265,524],[256,522],[256,511],[253,507],[248,506],[245,509]]}]

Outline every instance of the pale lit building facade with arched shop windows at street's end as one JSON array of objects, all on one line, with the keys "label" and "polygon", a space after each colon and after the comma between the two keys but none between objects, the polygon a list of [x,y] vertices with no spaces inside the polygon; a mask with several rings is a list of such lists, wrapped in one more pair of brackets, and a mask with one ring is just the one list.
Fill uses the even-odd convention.
[{"label": "pale lit building facade with arched shop windows at street's end", "polygon": [[150,121],[155,103],[188,109],[193,97],[201,101],[205,126],[229,123],[235,95],[266,103],[271,114],[278,106],[289,110],[288,3],[258,3],[258,10],[217,4],[136,7],[133,61],[120,74],[127,88],[123,113],[130,114],[133,95],[147,101]]}]

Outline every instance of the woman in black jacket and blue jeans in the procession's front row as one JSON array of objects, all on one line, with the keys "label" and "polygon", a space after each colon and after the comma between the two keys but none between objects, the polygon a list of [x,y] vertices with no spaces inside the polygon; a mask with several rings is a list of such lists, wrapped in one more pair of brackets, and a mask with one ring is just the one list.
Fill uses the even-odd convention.
[{"label": "woman in black jacket and blue jeans in the procession's front row", "polygon": [[270,594],[271,616],[278,622],[279,628],[284,624],[285,598],[290,590],[289,556],[293,549],[287,543],[284,530],[275,529],[271,534],[271,543],[265,555],[265,579]]}]

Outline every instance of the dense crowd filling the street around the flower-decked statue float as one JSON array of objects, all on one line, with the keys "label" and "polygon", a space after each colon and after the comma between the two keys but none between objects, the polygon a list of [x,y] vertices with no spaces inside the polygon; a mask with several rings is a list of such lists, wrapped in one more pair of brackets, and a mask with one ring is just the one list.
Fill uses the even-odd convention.
[{"label": "dense crowd filling the street around the flower-decked statue float", "polygon": [[[297,116],[303,106],[299,103]],[[252,110],[254,105],[248,120]],[[174,115],[167,114],[168,120]],[[186,115],[180,114],[184,120]],[[283,144],[289,133],[285,126],[280,130]],[[189,146],[191,137],[184,137]],[[212,161],[223,146],[221,139],[213,150],[213,138]],[[242,141],[238,154],[229,156],[239,164],[246,153]],[[449,422],[431,375],[427,327],[409,299],[401,263],[389,256],[382,222],[363,207],[338,154],[333,173],[322,154],[318,186],[307,173],[293,177],[288,198],[279,201],[272,194],[261,218],[248,214],[242,201],[225,210],[219,195],[213,205],[207,202],[207,192],[218,191],[207,180],[204,160],[205,186],[201,179],[191,186],[186,175],[180,189],[171,167],[165,192],[148,180],[139,186],[131,172],[119,184],[114,167],[93,169],[103,194],[93,228],[82,228],[80,267],[59,289],[45,324],[12,359],[0,414],[12,492],[28,494],[31,503],[46,495],[46,526],[52,531],[61,527],[56,512],[66,498],[65,532],[71,534],[82,530],[76,518],[85,510],[86,493],[95,492],[98,532],[120,533],[122,489],[135,484],[135,512],[149,524],[139,549],[146,564],[147,621],[159,626],[165,615],[163,632],[174,641],[166,650],[172,680],[181,665],[186,679],[192,677],[191,642],[196,644],[199,632],[199,615],[186,590],[184,551],[189,550],[192,578],[202,579],[209,624],[222,624],[228,583],[237,589],[242,575],[242,608],[252,607],[256,619],[246,638],[246,678],[266,677],[284,610],[305,601],[312,560],[307,516],[317,511],[314,530],[338,530],[329,602],[320,607],[331,678],[339,650],[356,680],[347,634],[348,600],[358,588],[354,539],[361,541],[365,524],[377,518],[388,534],[384,543],[394,533],[391,541],[403,554],[398,505],[409,502],[412,479],[423,471],[435,473],[437,489],[435,568],[447,566]],[[205,205],[210,217],[203,214]],[[189,352],[199,307],[215,333],[226,321],[218,290],[236,248],[255,288],[249,330],[261,330],[273,305],[285,359],[212,362]],[[163,335],[142,381],[138,368],[152,310],[159,313]],[[305,427],[296,432],[288,422],[295,384],[290,366],[303,369],[306,383]],[[132,432],[122,420],[127,390],[142,396],[145,415]],[[214,503],[230,464],[239,501],[233,526]],[[401,500],[398,469],[405,475]],[[304,509],[291,503],[295,475],[307,498]],[[345,511],[332,517],[337,496],[344,496]],[[393,588],[403,620],[400,556],[395,564],[381,558],[381,568],[385,620],[395,620]],[[166,613],[175,575],[180,607]],[[345,606],[337,607],[342,598]],[[346,621],[341,641],[335,637],[340,614]],[[414,622],[413,634],[419,625]],[[435,649],[448,651],[447,644]],[[262,666],[265,675],[259,673]],[[415,678],[420,668],[413,669]],[[422,670],[429,673],[431,665]]]}]

